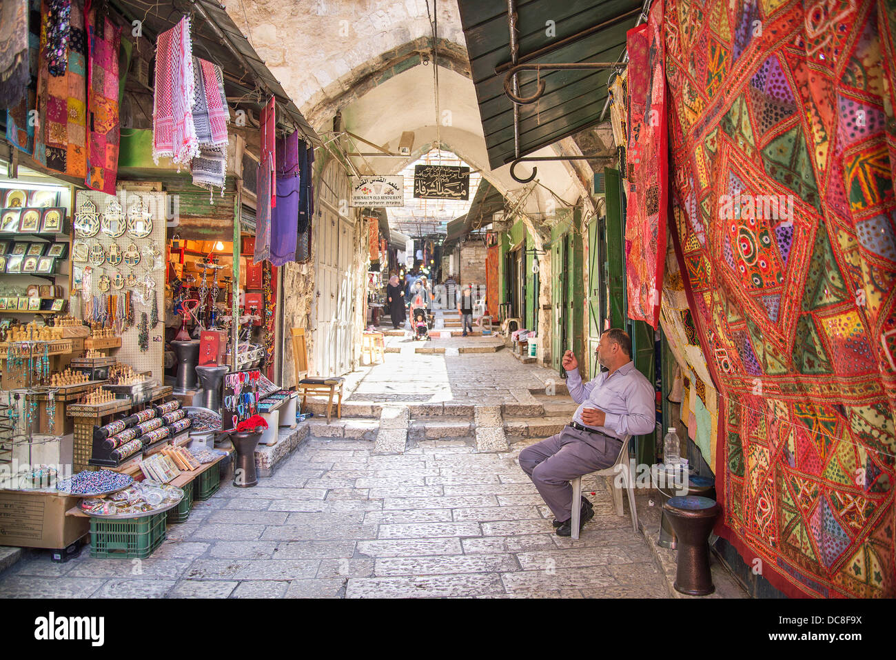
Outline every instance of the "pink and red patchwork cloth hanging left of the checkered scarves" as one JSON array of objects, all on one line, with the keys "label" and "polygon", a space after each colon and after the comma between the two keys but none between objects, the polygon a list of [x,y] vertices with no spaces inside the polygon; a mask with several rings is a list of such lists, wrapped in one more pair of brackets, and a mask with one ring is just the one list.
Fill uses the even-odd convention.
[{"label": "pink and red patchwork cloth hanging left of the checkered scarves", "polygon": [[118,174],[118,48],[121,28],[98,10],[87,13],[87,111],[90,145],[87,152],[87,186],[115,195]]}]

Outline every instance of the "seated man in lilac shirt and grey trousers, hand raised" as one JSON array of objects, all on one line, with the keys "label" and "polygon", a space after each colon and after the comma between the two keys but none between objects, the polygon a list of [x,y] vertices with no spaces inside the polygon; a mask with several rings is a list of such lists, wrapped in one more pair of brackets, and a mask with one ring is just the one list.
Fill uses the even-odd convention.
[{"label": "seated man in lilac shirt and grey trousers, hand raised", "polygon": [[[582,385],[579,361],[572,351],[565,352],[566,385],[573,401],[581,405],[564,430],[520,452],[520,467],[554,512],[560,536],[573,533],[570,481],[615,464],[621,438],[650,433],[656,424],[653,386],[634,368],[628,334],[617,328],[607,330],[600,336],[595,354],[609,370]],[[592,517],[591,503],[583,497],[579,529]]]}]

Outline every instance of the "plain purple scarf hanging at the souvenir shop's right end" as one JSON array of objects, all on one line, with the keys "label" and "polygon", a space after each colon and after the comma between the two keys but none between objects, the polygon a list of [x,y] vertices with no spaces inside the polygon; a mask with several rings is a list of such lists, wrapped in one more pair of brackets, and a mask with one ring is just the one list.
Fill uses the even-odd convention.
[{"label": "plain purple scarf hanging at the souvenir shop's right end", "polygon": [[298,131],[277,139],[277,206],[271,211],[271,264],[296,260],[301,187]]}]

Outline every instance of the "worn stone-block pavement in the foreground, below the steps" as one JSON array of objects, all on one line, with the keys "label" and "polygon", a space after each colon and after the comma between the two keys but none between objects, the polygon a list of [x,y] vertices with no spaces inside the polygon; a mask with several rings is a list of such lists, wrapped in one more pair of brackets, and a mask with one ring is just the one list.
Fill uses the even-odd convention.
[{"label": "worn stone-block pavement in the foreground, below the steps", "polygon": [[197,502],[150,559],[36,553],[0,574],[0,598],[668,596],[602,482],[586,480],[596,516],[582,538],[553,533],[515,462],[524,444],[420,440],[377,456],[367,440],[310,439],[257,487]]}]

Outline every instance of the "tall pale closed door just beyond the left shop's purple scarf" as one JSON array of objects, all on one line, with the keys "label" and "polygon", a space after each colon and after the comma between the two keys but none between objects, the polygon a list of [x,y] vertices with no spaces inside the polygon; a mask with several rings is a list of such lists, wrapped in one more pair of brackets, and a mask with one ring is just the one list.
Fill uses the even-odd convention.
[{"label": "tall pale closed door just beyond the left shop's purple scarf", "polygon": [[339,163],[323,170],[320,187],[320,221],[314,223],[314,328],[315,376],[340,376],[352,369],[351,315],[356,285],[353,273],[355,223],[346,200],[349,178]]}]

